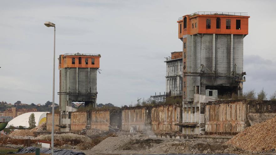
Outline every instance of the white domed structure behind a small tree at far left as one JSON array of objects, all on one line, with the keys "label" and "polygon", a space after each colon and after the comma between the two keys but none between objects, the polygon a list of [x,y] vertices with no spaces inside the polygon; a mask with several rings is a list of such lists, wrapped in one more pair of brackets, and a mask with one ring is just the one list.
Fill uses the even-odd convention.
[{"label": "white domed structure behind a small tree at far left", "polygon": [[40,125],[42,122],[46,121],[46,114],[49,112],[27,112],[24,113],[22,115],[19,115],[15,118],[13,118],[11,121],[8,122],[7,127],[9,127],[10,125],[14,126],[14,127],[29,127],[29,116],[34,113],[34,119],[35,119],[35,125],[38,126]]}]

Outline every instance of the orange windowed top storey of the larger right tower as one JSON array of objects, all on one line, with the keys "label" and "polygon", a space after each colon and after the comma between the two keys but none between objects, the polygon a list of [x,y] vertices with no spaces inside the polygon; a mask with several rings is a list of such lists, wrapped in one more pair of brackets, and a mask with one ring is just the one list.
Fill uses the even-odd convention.
[{"label": "orange windowed top storey of the larger right tower", "polygon": [[248,34],[247,13],[196,12],[178,18],[178,38],[193,34]]}]

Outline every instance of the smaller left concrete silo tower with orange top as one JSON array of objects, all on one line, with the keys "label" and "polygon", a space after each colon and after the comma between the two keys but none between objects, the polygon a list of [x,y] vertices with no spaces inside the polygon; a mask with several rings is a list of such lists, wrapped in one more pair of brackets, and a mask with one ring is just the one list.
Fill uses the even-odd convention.
[{"label": "smaller left concrete silo tower with orange top", "polygon": [[61,131],[69,131],[72,102],[97,104],[97,70],[100,54],[66,53],[59,56]]}]

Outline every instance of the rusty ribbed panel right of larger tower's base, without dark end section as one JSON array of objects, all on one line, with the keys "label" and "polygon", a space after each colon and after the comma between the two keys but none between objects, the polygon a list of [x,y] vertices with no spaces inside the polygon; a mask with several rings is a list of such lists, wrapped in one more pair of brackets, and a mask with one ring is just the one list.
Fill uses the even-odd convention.
[{"label": "rusty ribbed panel right of larger tower's base, without dark end section", "polygon": [[246,127],[247,104],[234,101],[205,107],[205,134],[236,135]]}]

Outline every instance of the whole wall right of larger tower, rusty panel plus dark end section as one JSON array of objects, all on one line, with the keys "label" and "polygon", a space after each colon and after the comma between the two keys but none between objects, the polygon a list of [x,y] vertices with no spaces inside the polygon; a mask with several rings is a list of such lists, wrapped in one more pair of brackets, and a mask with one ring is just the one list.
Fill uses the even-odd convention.
[{"label": "whole wall right of larger tower, rusty panel plus dark end section", "polygon": [[236,135],[276,116],[276,101],[215,101],[205,106],[205,134]]}]

